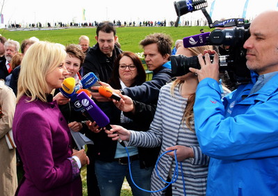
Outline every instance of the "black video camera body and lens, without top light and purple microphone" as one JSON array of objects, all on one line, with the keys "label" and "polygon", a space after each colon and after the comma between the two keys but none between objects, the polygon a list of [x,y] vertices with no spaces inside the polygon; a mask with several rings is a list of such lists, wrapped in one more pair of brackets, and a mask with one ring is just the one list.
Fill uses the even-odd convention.
[{"label": "black video camera body and lens, without top light and purple microphone", "polygon": [[[248,25],[249,27],[249,25]],[[244,27],[215,29],[206,39],[206,44],[229,46],[226,54],[220,54],[220,72],[227,71],[231,83],[235,85],[250,81],[250,70],[246,66],[246,50],[243,44],[250,37],[248,29]],[[213,60],[213,56],[211,56]],[[172,74],[182,76],[189,71],[189,67],[200,69],[197,56],[187,58],[186,56],[171,56]]]}]

